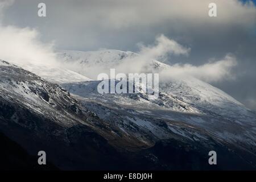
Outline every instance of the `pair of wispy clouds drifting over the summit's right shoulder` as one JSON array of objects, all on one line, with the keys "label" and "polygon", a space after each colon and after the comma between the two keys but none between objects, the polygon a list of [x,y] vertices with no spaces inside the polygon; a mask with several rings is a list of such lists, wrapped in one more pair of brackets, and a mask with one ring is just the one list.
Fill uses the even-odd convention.
[{"label": "pair of wispy clouds drifting over the summit's right shoulder", "polygon": [[[135,57],[128,57],[118,66],[119,72],[143,72],[150,64],[150,60],[162,61],[168,54],[189,55],[191,48],[185,48],[175,40],[168,39],[164,35],[156,37],[155,45],[144,46]],[[163,62],[163,61],[162,61]],[[168,77],[196,77],[207,82],[216,82],[233,78],[232,68],[237,65],[236,57],[227,54],[224,59],[210,61],[209,63],[195,66],[191,64],[171,64],[170,67],[160,71],[163,80]]]}]

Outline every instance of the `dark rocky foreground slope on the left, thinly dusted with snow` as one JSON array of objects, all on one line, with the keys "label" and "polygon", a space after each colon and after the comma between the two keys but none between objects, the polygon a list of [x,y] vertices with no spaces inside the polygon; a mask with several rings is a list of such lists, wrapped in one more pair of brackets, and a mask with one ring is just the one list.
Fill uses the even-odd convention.
[{"label": "dark rocky foreground slope on the left, thinly dusted with snow", "polygon": [[6,61],[0,61],[0,75],[0,132],[29,155],[44,150],[60,169],[121,165],[122,156],[107,140],[115,137],[112,130],[59,85]]}]

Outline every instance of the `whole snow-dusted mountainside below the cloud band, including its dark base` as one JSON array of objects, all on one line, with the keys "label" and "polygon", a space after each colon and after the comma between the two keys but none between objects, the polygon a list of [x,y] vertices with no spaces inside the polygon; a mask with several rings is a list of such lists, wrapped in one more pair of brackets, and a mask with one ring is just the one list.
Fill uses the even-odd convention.
[{"label": "whole snow-dusted mountainside below the cloud band, including its dark base", "polygon": [[51,169],[256,168],[255,113],[205,82],[161,82],[151,100],[98,94],[98,81],[59,86],[6,61],[0,76],[0,133],[35,165],[44,150]]}]

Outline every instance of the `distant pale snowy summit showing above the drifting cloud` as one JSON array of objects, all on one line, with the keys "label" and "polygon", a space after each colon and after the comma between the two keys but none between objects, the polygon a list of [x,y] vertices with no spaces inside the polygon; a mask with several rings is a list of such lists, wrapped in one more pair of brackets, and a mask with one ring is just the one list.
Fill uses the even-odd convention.
[{"label": "distant pale snowy summit showing above the drifting cloud", "polygon": [[[169,67],[167,64],[153,59],[137,61],[139,56],[138,53],[113,49],[88,52],[62,50],[57,52],[57,57],[61,63],[68,64],[68,68],[72,71],[94,80],[97,79],[99,73],[109,73],[111,68],[115,68],[117,72],[130,73],[130,67],[133,70],[134,67],[138,68],[140,72],[159,72],[159,70]],[[131,62],[137,65],[133,65]]]}]

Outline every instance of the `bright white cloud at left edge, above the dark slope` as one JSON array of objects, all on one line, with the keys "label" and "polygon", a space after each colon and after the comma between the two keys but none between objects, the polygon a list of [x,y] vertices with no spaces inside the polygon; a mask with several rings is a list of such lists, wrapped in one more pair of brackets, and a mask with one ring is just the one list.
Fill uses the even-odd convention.
[{"label": "bright white cloud at left edge, above the dark slope", "polygon": [[52,64],[55,61],[52,44],[40,42],[35,29],[0,26],[0,40],[0,59],[16,64]]}]

